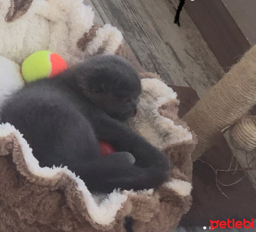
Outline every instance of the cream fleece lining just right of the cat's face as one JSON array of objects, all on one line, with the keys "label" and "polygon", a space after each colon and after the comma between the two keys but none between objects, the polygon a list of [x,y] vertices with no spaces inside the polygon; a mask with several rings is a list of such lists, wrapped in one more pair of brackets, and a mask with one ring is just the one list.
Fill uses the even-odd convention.
[{"label": "cream fleece lining just right of the cat's face", "polygon": [[168,102],[178,103],[177,94],[156,78],[143,78],[141,87],[143,91],[138,105],[140,115],[130,119],[129,126],[160,150],[167,149],[171,144],[192,141],[192,133],[187,128],[175,125],[173,120],[158,112],[158,109]]}]

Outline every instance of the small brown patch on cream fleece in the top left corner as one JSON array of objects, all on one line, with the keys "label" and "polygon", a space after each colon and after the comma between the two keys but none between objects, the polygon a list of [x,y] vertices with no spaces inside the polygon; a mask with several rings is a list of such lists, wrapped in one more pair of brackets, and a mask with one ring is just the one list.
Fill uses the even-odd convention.
[{"label": "small brown patch on cream fleece in the top left corner", "polygon": [[10,0],[10,7],[5,15],[6,22],[13,22],[15,19],[24,15],[29,9],[33,0]]}]

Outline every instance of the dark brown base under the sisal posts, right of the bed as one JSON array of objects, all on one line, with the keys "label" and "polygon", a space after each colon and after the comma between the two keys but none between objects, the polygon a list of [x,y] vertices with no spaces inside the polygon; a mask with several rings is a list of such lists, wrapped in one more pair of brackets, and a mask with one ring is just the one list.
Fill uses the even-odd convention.
[{"label": "dark brown base under the sisal posts, right of the bed", "polygon": [[[180,100],[179,117],[182,118],[191,107],[199,100],[196,91],[189,87],[171,86],[178,94]],[[206,151],[201,160],[212,165],[215,169],[228,169],[232,160],[232,151],[229,148],[225,138],[220,136],[216,144]],[[251,219],[256,215],[256,190],[254,189],[248,176],[229,187],[220,186],[222,192],[216,186],[215,172],[211,167],[197,160],[193,163],[192,175],[192,198],[193,203],[189,212],[182,217],[180,225],[200,225],[210,224],[210,220],[227,220],[235,218]],[[232,168],[235,168],[236,159],[233,158]],[[241,165],[238,164],[238,169]],[[224,184],[234,183],[239,180],[244,172],[238,171],[235,175],[233,172],[220,173],[219,179]]]}]

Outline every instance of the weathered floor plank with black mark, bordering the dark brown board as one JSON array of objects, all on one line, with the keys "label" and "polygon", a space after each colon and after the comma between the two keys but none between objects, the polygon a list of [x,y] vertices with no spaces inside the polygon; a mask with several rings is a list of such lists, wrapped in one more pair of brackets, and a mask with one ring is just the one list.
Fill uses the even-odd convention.
[{"label": "weathered floor plank with black mark, bordering the dark brown board", "polygon": [[[173,23],[178,0],[172,2],[163,0],[157,4],[154,0],[141,0],[141,2],[162,40],[170,47],[175,59],[178,58],[177,63],[185,64],[185,67],[182,65],[180,67],[184,70],[183,75],[187,84],[201,97],[203,95],[201,91],[206,92],[214,85],[222,77],[223,70],[200,32],[191,22],[186,11],[183,12],[186,17],[183,29]],[[180,78],[179,73],[177,78]],[[198,90],[199,88],[201,90]]]}]

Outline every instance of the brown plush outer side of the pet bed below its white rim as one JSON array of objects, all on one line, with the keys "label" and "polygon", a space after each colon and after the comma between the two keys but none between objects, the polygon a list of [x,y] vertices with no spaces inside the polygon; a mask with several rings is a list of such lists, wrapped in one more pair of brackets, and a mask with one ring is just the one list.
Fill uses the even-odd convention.
[{"label": "brown plush outer side of the pet bed below its white rim", "polygon": [[[167,154],[174,157],[176,165],[170,177],[191,179],[191,165],[181,164],[193,148],[194,143],[168,149]],[[131,193],[115,221],[102,227],[93,223],[74,180],[65,173],[51,178],[36,176],[29,171],[23,155],[14,134],[0,137],[1,231],[122,232],[125,216],[133,218],[134,231],[170,231],[191,205],[190,195],[183,197],[163,187],[150,197],[145,193]]]}]

